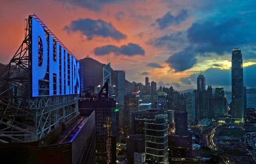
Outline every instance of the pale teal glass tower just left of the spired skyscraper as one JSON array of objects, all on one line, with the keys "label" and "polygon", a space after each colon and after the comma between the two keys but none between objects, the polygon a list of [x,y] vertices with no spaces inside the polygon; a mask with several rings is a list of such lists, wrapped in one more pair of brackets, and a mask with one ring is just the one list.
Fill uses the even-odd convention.
[{"label": "pale teal glass tower just left of the spired skyscraper", "polygon": [[194,92],[188,92],[186,94],[186,111],[187,111],[187,123],[192,124],[196,122],[196,96]]}]

